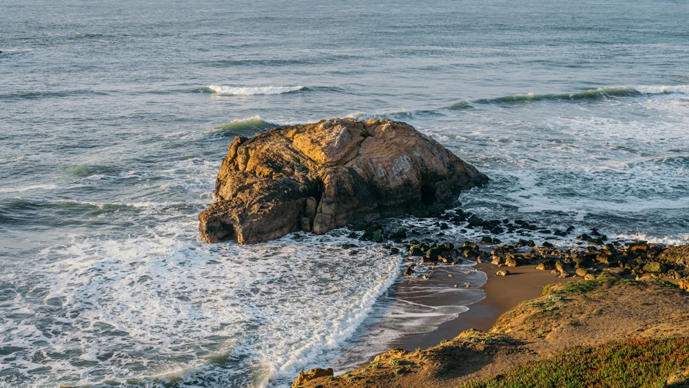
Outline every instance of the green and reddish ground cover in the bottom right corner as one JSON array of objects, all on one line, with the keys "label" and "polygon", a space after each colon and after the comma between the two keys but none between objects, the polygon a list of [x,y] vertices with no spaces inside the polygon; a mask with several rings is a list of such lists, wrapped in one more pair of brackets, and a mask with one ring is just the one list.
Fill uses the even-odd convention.
[{"label": "green and reddish ground cover in the bottom right corner", "polygon": [[665,387],[688,374],[689,338],[631,339],[575,347],[464,387]]}]

